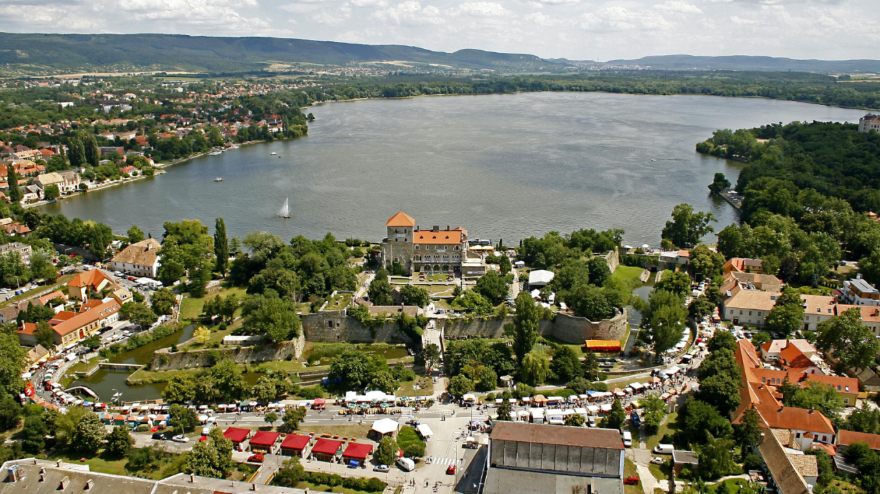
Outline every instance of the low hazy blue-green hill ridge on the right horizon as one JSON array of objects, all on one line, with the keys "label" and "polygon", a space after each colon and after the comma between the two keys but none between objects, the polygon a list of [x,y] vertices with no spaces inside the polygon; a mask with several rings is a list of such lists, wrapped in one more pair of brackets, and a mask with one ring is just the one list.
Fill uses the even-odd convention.
[{"label": "low hazy blue-green hill ridge on the right horizon", "polygon": [[[562,62],[556,60],[554,62]],[[661,70],[772,70],[797,72],[821,72],[824,74],[874,72],[880,73],[880,60],[797,60],[772,56],[694,56],[691,54],[664,54],[645,56],[634,60],[609,62],[564,61],[572,65],[591,67],[639,66]]]}]

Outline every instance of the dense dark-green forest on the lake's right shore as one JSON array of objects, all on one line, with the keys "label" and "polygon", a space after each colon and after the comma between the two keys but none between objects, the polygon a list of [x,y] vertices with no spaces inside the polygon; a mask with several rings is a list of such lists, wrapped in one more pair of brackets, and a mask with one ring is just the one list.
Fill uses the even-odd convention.
[{"label": "dense dark-green forest on the lake's right shore", "polygon": [[793,122],[719,130],[697,150],[744,160],[741,226],[718,234],[730,257],[764,258],[782,280],[815,284],[839,258],[880,281],[880,135],[853,124]]}]

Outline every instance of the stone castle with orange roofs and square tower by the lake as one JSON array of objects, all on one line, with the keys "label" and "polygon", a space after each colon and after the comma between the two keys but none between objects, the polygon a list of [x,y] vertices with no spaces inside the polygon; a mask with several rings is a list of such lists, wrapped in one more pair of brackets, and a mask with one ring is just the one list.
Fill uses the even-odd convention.
[{"label": "stone castle with orange roofs and square tower by the lake", "polygon": [[387,222],[388,236],[382,241],[381,264],[390,269],[395,263],[410,275],[413,272],[461,273],[467,263],[467,230],[461,227],[429,230],[419,228],[415,219],[401,211]]}]

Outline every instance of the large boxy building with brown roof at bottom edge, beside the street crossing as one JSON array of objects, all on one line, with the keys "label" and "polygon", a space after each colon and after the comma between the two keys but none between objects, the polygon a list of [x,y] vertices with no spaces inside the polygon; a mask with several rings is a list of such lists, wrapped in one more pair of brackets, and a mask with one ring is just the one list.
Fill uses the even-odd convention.
[{"label": "large boxy building with brown roof at bottom edge, beside the street crossing", "polygon": [[498,422],[489,434],[484,494],[623,492],[620,432]]}]

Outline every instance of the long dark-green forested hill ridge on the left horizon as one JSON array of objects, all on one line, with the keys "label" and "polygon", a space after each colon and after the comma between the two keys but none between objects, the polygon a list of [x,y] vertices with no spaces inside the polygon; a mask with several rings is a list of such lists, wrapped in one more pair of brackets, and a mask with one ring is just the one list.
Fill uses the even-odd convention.
[{"label": "long dark-green forested hill ridge on the left horizon", "polygon": [[[558,69],[532,54],[465,49],[434,52],[402,45],[356,45],[282,38],[225,38],[180,34],[0,33],[0,64],[33,69],[165,69],[232,72],[265,69],[272,63],[404,61],[459,69],[504,71]],[[404,69],[404,68],[401,68]]]}]

